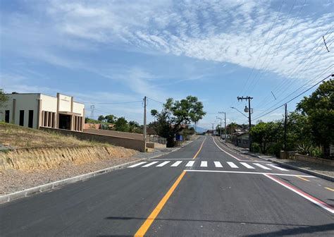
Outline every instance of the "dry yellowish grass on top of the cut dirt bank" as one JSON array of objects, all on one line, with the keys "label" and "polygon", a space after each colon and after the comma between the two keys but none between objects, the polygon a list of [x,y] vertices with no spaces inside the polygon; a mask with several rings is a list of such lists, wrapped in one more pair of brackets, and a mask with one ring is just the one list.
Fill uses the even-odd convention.
[{"label": "dry yellowish grass on top of the cut dirt bank", "polygon": [[78,140],[72,136],[48,133],[42,130],[24,128],[9,123],[0,122],[0,144],[15,148],[35,147],[82,147],[104,146],[110,144]]}]

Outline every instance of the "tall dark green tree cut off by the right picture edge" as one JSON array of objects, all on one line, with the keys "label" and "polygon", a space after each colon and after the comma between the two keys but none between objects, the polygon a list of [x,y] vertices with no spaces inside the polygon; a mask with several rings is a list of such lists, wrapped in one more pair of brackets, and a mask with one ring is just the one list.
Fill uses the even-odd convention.
[{"label": "tall dark green tree cut off by the right picture edge", "polygon": [[328,157],[329,146],[334,144],[334,80],[319,85],[309,97],[297,104],[297,111],[309,117],[313,140]]}]

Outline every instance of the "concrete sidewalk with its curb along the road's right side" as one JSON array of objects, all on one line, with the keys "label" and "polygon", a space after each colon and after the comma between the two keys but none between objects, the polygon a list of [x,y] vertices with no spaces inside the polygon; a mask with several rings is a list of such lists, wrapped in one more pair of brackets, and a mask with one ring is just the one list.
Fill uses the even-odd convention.
[{"label": "concrete sidewalk with its curb along the road's right side", "polygon": [[314,176],[318,176],[320,178],[325,178],[329,181],[334,181],[334,169],[332,166],[326,166],[323,164],[316,164],[313,162],[304,162],[304,161],[298,161],[295,159],[278,159],[275,156],[271,156],[268,154],[260,154],[256,152],[249,152],[249,149],[237,147],[233,145],[232,143],[225,143],[223,140],[220,139],[220,141],[229,147],[230,149],[235,150],[236,152],[240,152],[242,154],[248,154],[252,157],[258,157],[260,159],[264,159],[266,161],[270,161],[276,164],[280,164],[281,166],[285,166],[290,169],[295,169],[298,171],[302,171],[307,174],[312,174]]}]

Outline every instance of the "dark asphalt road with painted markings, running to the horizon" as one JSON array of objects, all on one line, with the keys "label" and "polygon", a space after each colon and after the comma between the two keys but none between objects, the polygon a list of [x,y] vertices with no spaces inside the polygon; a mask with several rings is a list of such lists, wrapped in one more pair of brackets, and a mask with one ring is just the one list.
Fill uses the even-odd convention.
[{"label": "dark asphalt road with painted markings, running to the horizon", "polygon": [[334,186],[202,136],[0,205],[0,236],[334,236]]}]

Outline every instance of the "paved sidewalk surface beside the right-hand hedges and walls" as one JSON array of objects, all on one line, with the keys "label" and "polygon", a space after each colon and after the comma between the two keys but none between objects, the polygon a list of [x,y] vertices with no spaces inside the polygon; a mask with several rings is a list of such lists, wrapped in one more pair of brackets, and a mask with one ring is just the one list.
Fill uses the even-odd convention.
[{"label": "paved sidewalk surface beside the right-hand hedges and walls", "polygon": [[[221,142],[223,142],[221,140]],[[259,157],[261,159],[270,160],[271,162],[279,162],[283,164],[287,164],[291,168],[295,167],[295,169],[304,169],[306,171],[316,172],[318,174],[323,174],[325,176],[330,176],[331,178],[334,177],[334,168],[332,166],[326,166],[323,164],[316,164],[313,162],[304,162],[304,161],[298,161],[295,159],[278,159],[275,156],[267,155],[267,154],[260,154],[255,152],[249,152],[249,149],[237,147],[231,143],[224,143],[231,149],[241,152],[242,154],[249,154],[254,157]]]}]

